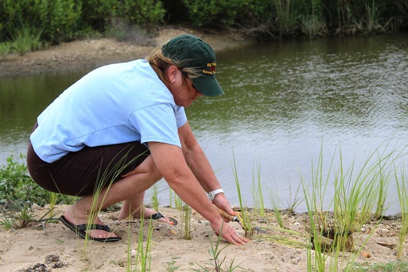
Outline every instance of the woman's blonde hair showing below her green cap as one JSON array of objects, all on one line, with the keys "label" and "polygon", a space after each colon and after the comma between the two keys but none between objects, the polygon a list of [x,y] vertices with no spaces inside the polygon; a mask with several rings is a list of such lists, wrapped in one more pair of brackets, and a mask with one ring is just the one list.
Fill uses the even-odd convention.
[{"label": "woman's blonde hair showing below her green cap", "polygon": [[186,60],[182,61],[172,60],[164,56],[162,52],[162,46],[163,45],[159,45],[155,49],[153,49],[147,56],[146,60],[149,62],[151,68],[155,70],[155,72],[159,76],[160,80],[163,81],[163,83],[168,83],[166,78],[164,77],[164,70],[171,65],[178,67],[180,71],[182,71],[189,78],[196,78],[199,76],[198,68],[194,67],[181,68],[183,66],[182,65],[183,62]]}]

